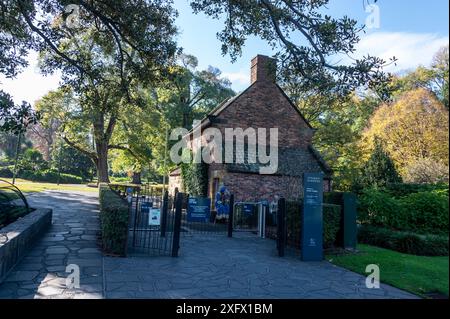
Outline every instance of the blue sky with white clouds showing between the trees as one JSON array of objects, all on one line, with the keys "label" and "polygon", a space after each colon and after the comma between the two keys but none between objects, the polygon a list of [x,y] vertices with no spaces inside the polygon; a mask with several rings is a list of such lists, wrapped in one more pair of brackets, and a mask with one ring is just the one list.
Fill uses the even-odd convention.
[{"label": "blue sky with white clouds showing between the trees", "polygon": [[[189,0],[174,0],[179,11],[179,45],[199,59],[199,68],[218,67],[223,76],[232,81],[233,89],[240,91],[249,84],[250,60],[257,54],[270,55],[268,45],[257,38],[247,41],[241,57],[231,63],[223,57],[216,33],[222,28],[220,21],[203,14],[194,15]],[[390,66],[391,72],[402,72],[418,65],[428,65],[433,54],[448,44],[448,0],[379,0],[380,28],[361,34],[355,57],[370,53],[382,58],[395,55],[399,62]],[[348,15],[364,24],[369,13],[364,11],[363,0],[330,0],[326,10],[332,16]],[[43,77],[36,66],[36,55],[30,55],[30,67],[16,79],[0,76],[0,87],[13,95],[16,102],[33,103],[49,90],[58,87],[59,77]]]}]

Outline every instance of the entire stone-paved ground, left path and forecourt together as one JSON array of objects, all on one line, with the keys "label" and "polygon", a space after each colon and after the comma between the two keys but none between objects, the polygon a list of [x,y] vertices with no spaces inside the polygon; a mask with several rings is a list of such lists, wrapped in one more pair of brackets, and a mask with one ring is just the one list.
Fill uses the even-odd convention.
[{"label": "entire stone-paved ground, left path and forecourt together", "polygon": [[[54,223],[0,285],[0,298],[417,298],[328,262],[279,258],[271,240],[237,234],[182,237],[180,257],[102,257],[95,194],[30,196],[52,207]],[[66,289],[66,265],[81,269],[80,289]]]}]

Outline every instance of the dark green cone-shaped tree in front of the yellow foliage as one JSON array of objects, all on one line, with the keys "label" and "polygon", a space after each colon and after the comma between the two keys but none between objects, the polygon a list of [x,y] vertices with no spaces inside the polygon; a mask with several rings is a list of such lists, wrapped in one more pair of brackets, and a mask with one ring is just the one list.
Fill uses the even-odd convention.
[{"label": "dark green cone-shaped tree in front of the yellow foliage", "polygon": [[364,164],[358,186],[384,187],[391,183],[400,183],[402,178],[398,174],[394,161],[383,149],[382,142],[375,140],[375,147],[369,160]]}]

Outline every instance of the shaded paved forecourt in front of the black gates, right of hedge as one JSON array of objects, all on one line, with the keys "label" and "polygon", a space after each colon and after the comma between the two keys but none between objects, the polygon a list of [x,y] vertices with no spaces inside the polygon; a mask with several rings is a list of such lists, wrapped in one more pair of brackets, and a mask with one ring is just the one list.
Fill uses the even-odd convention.
[{"label": "shaded paved forecourt in front of the black gates, right of hedge", "polygon": [[105,258],[107,298],[417,298],[326,261],[280,258],[275,243],[234,233],[182,237],[180,257]]}]

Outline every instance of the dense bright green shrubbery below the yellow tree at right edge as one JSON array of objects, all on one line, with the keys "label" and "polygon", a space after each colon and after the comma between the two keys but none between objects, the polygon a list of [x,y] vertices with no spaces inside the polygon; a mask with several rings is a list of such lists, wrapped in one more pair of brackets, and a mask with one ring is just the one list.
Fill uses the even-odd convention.
[{"label": "dense bright green shrubbery below the yellow tree at right edge", "polygon": [[359,196],[358,220],[366,225],[443,234],[448,233],[448,214],[448,195],[439,190],[393,197],[389,191],[367,189]]}]

